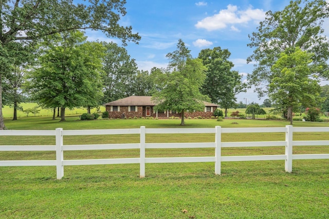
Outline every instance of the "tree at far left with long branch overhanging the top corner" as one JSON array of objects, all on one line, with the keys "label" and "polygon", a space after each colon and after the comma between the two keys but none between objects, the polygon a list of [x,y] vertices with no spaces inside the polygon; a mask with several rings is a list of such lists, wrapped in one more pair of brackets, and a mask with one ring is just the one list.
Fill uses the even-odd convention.
[{"label": "tree at far left with long branch overhanging the top corner", "polygon": [[125,1],[88,1],[74,4],[71,0],[1,1],[0,2],[0,130],[5,129],[2,113],[2,83],[10,74],[17,52],[17,41],[33,42],[45,36],[68,30],[101,30],[108,37],[137,42],[132,27],[118,25],[126,11]]}]

